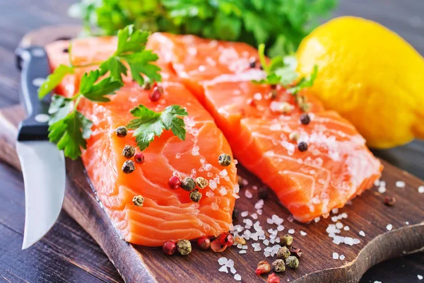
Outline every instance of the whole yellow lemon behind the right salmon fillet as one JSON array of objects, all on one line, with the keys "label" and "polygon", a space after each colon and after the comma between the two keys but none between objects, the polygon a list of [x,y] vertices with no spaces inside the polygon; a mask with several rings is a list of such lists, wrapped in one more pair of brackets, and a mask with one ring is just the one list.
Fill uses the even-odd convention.
[{"label": "whole yellow lemon behind the right salmon fillet", "polygon": [[310,89],[379,149],[424,138],[424,59],[403,38],[373,21],[341,17],[302,40],[298,71],[314,64]]}]

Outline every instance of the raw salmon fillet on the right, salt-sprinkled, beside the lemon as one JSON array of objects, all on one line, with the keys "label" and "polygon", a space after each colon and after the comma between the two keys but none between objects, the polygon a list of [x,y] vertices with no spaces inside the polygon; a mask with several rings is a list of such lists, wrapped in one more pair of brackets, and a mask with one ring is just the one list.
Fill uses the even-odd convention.
[{"label": "raw salmon fillet on the right, salt-sprinkled, beside the lemon", "polygon": [[[278,90],[276,100],[266,98],[269,86],[251,82],[264,76],[249,67],[249,59],[257,57],[252,47],[159,33],[150,42],[167,53],[183,83],[213,115],[235,157],[276,192],[298,221],[328,215],[379,178],[381,163],[336,112],[309,98],[311,122],[302,125],[302,112],[285,89]],[[290,113],[279,111],[283,102],[293,105]],[[300,134],[299,142],[307,142],[307,151],[290,141],[293,131]]]}]

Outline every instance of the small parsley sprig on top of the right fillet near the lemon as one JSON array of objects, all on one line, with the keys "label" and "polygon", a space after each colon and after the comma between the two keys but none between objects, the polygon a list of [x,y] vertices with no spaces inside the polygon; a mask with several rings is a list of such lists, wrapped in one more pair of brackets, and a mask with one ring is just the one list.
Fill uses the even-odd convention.
[{"label": "small parsley sprig on top of the right fillet near the lemon", "polygon": [[302,76],[299,79],[299,74],[296,71],[297,61],[293,56],[286,57],[273,57],[269,64],[266,62],[265,45],[261,44],[258,47],[259,62],[265,71],[266,78],[254,83],[269,84],[271,86],[281,85],[287,88],[288,93],[295,96],[295,101],[299,104],[302,110],[307,110],[307,103],[305,98],[298,96],[298,93],[303,88],[309,88],[314,84],[317,79],[318,67],[314,66],[314,70],[310,76]]}]

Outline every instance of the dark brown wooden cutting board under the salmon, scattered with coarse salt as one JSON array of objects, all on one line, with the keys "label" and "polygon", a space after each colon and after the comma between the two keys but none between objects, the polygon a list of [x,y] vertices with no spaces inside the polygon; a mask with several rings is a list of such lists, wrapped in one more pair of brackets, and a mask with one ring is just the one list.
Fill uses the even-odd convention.
[{"label": "dark brown wooden cutting board under the salmon, scattered with coarse salt", "polygon": [[[78,28],[69,27],[37,30],[24,37],[23,44],[45,45],[55,38],[72,37],[76,30]],[[0,110],[0,158],[16,168],[19,168],[14,146],[16,129],[24,116],[19,105]],[[348,218],[340,221],[350,227],[349,231],[342,230],[340,235],[360,239],[360,243],[354,246],[344,243],[336,245],[327,235],[327,226],[336,223],[331,220],[334,215],[311,224],[290,221],[287,209],[276,201],[272,192],[269,193],[263,214],[259,216],[261,226],[265,230],[276,229],[275,224],[266,224],[266,219],[277,214],[284,219],[285,229],[280,234],[294,229],[293,246],[303,250],[298,270],[286,270],[278,275],[281,282],[357,282],[377,262],[424,250],[424,193],[418,192],[418,187],[424,185],[424,181],[384,161],[382,163],[385,167],[382,180],[387,183],[387,192],[380,194],[375,187],[338,211],[338,214],[347,213]],[[160,248],[143,248],[126,243],[96,201],[81,161],[67,160],[66,168],[68,178],[64,209],[105,250],[126,282],[235,282],[230,272],[218,272],[220,257],[234,260],[242,282],[266,281],[266,276],[254,274],[257,262],[268,260],[271,263],[276,258],[264,256],[265,246],[262,243],[262,250],[254,252],[251,246],[254,241],[249,241],[246,254],[240,254],[235,247],[223,253],[213,253],[211,250],[199,250],[194,245],[192,253],[186,257],[166,256]],[[241,197],[235,207],[239,212],[248,211],[251,214],[255,212],[254,204],[259,200],[255,188],[263,184],[244,168],[239,169],[239,174],[249,181],[249,185],[240,192]],[[398,180],[403,180],[406,186],[396,187]],[[252,198],[245,197],[246,190],[252,192]],[[393,207],[384,205],[387,195],[396,198]],[[243,219],[239,215],[234,224],[244,226]],[[387,229],[389,224],[393,227],[391,231]],[[305,236],[300,231],[305,232]],[[360,236],[360,231],[364,231],[365,236]],[[344,255],[344,260],[333,259],[334,252]]]}]

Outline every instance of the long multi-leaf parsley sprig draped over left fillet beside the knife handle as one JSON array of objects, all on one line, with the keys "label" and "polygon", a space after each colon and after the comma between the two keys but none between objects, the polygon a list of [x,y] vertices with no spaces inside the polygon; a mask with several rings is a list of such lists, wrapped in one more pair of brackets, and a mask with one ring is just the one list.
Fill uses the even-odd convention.
[{"label": "long multi-leaf parsley sprig draped over left fillet beside the knife handle", "polygon": [[[65,156],[78,158],[81,148],[86,149],[86,139],[91,135],[93,122],[77,110],[81,98],[102,103],[110,101],[107,96],[113,95],[117,89],[124,86],[122,76],[126,76],[128,71],[124,62],[128,64],[133,79],[140,85],[144,83],[143,75],[151,81],[160,81],[160,68],[152,64],[158,56],[151,50],[146,50],[149,34],[135,30],[134,25],[126,26],[118,31],[117,50],[111,57],[103,62],[81,66],[72,63],[69,66],[61,64],[40,86],[38,96],[41,99],[56,88],[67,74],[73,74],[76,68],[99,65],[98,69],[83,74],[79,90],[72,98],[52,96],[49,107],[49,140],[57,143],[57,147],[64,150]],[[169,128],[168,124],[165,126]]]}]

